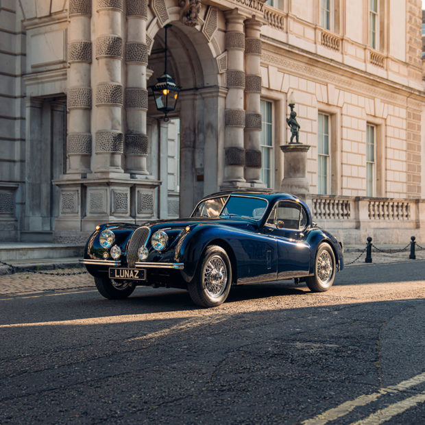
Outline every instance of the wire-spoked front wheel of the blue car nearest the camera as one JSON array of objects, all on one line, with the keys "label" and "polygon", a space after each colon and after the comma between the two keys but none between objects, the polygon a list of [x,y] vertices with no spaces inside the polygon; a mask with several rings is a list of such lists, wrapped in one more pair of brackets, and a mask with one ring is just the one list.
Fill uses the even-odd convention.
[{"label": "wire-spoked front wheel of the blue car nearest the camera", "polygon": [[231,284],[232,267],[228,254],[222,247],[210,245],[197,268],[195,278],[188,284],[189,295],[199,306],[219,306],[228,298]]}]

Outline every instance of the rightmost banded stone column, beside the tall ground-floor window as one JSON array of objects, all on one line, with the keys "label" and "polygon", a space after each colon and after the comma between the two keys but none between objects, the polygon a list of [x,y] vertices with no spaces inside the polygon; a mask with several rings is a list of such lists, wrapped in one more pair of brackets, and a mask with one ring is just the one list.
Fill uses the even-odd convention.
[{"label": "rightmost banded stone column, beside the tall ground-floor window", "polygon": [[245,180],[253,186],[264,186],[261,169],[261,23],[256,19],[245,21]]}]

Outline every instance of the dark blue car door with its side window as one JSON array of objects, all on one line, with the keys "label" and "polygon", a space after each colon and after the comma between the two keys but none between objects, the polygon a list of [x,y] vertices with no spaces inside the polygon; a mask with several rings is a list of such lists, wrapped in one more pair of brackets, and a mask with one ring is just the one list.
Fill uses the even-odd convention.
[{"label": "dark blue car door with its side window", "polygon": [[278,279],[308,274],[310,245],[304,241],[307,213],[302,204],[279,201],[265,223],[265,231],[278,242]]}]

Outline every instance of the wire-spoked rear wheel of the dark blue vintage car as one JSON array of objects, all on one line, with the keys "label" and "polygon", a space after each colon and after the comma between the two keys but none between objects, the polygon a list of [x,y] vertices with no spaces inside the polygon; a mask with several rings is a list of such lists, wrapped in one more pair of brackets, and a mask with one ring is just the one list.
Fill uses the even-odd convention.
[{"label": "wire-spoked rear wheel of the dark blue vintage car", "polygon": [[328,243],[322,243],[316,253],[315,274],[306,278],[306,284],[313,292],[325,292],[332,287],[334,279],[335,255]]}]

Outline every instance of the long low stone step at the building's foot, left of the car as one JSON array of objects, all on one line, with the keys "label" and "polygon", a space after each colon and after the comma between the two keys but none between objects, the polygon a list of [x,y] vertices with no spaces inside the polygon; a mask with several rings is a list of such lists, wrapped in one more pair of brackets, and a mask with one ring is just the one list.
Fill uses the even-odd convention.
[{"label": "long low stone step at the building's foot, left of the car", "polygon": [[40,260],[55,258],[82,258],[84,245],[65,245],[61,243],[0,243],[0,261]]}]

